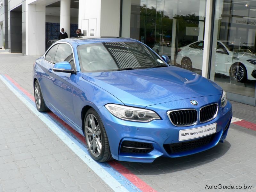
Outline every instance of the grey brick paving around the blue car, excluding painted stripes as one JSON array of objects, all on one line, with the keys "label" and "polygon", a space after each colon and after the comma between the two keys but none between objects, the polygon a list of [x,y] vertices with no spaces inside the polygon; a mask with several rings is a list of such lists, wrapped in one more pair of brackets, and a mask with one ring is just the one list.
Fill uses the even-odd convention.
[{"label": "grey brick paving around the blue car, excluding painted stripes", "polygon": [[[0,75],[33,95],[35,59],[0,53]],[[256,123],[255,107],[232,105],[235,117]],[[231,124],[226,142],[203,153],[151,164],[120,163],[156,191],[255,191],[255,137],[255,131]],[[205,189],[218,184],[252,189]],[[113,190],[0,80],[0,191]]]}]

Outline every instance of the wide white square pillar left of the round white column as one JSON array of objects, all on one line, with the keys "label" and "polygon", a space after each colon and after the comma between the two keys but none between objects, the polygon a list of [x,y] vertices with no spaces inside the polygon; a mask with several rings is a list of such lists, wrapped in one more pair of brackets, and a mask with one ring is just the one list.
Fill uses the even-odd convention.
[{"label": "wide white square pillar left of the round white column", "polygon": [[32,5],[26,1],[26,55],[45,52],[45,5]]}]

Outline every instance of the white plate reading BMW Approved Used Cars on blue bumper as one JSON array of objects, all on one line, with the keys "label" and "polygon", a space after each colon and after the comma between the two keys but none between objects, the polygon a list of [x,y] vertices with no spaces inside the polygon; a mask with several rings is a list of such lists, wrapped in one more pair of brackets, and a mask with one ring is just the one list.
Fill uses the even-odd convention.
[{"label": "white plate reading BMW Approved Used Cars on blue bumper", "polygon": [[198,137],[210,135],[215,133],[217,129],[217,123],[206,125],[203,127],[198,127],[194,129],[185,129],[179,131],[179,141],[195,139]]}]

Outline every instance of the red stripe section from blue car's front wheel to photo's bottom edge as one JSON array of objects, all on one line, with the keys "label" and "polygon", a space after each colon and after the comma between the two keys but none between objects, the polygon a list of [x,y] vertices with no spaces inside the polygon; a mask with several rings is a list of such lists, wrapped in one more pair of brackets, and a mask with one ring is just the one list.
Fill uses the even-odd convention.
[{"label": "red stripe section from blue car's front wheel to photo's bottom edge", "polygon": [[116,162],[116,160],[109,161],[108,162],[111,167],[115,168],[116,171],[121,173],[126,179],[132,182],[133,185],[135,185],[137,188],[139,188],[143,192],[156,192],[152,187],[150,187],[147,183],[145,183],[143,180],[135,176],[129,169],[124,167],[124,165]]}]

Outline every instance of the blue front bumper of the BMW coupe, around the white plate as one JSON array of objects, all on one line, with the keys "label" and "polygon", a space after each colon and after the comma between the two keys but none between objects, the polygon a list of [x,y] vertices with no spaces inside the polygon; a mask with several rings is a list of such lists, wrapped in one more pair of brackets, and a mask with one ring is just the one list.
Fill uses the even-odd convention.
[{"label": "blue front bumper of the BMW coupe, around the white plate", "polygon": [[[155,107],[159,108],[157,105]],[[152,110],[155,107],[150,109]],[[155,110],[158,114],[160,113],[162,120],[154,120],[148,123],[121,120],[110,114],[105,107],[100,108],[99,114],[108,135],[113,158],[119,161],[150,163],[160,156],[181,157],[192,155],[210,149],[219,142],[224,142],[232,118],[230,102],[227,103],[225,108],[219,108],[218,114],[213,120],[187,127],[174,126],[166,115],[165,107],[167,106],[162,108],[165,111],[165,116]],[[214,134],[179,141],[180,130],[199,128],[213,123],[217,124]],[[136,152],[124,152],[124,141],[128,142],[131,148],[138,148],[138,150]],[[198,145],[198,143],[202,142],[203,145]],[[140,145],[138,146],[138,144]],[[197,145],[197,147],[191,147],[193,145]],[[152,148],[145,153],[148,146],[152,146]],[[143,148],[145,149],[144,151]],[[173,150],[173,148],[176,149]],[[185,149],[179,151],[179,148]]]}]

